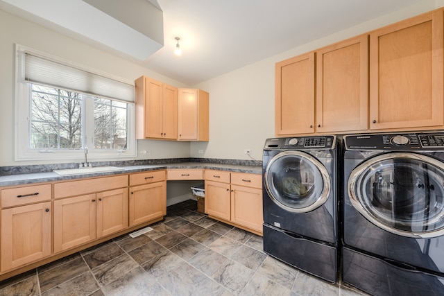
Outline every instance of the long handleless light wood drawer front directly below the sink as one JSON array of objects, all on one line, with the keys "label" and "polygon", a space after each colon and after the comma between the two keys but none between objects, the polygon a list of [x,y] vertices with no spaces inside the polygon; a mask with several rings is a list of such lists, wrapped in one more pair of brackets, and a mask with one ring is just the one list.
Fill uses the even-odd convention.
[{"label": "long handleless light wood drawer front directly below the sink", "polygon": [[54,184],[54,198],[96,193],[128,186],[128,175],[98,177],[94,179]]}]

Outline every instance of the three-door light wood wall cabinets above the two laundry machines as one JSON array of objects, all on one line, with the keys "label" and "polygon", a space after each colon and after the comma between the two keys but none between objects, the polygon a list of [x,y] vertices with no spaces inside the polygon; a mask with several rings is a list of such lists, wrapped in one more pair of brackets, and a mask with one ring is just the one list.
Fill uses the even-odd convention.
[{"label": "three-door light wood wall cabinets above the two laundry machines", "polygon": [[440,8],[276,63],[276,136],[443,129],[443,19]]}]

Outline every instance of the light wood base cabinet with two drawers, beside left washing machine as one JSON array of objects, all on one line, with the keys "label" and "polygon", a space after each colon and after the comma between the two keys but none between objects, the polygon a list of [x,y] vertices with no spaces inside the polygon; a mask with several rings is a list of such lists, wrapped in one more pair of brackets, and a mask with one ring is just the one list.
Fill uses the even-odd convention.
[{"label": "light wood base cabinet with two drawers, beside left washing machine", "polygon": [[262,235],[262,175],[205,171],[205,213]]}]

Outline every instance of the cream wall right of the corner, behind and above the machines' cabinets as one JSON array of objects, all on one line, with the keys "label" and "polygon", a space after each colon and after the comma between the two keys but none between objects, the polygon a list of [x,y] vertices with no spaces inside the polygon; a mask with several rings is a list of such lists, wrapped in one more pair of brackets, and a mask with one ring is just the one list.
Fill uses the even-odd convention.
[{"label": "cream wall right of the corner, behind and above the machines' cabinets", "polygon": [[276,62],[444,6],[443,0],[424,2],[195,85],[210,92],[210,142],[191,143],[191,157],[202,157],[198,150],[204,150],[203,157],[248,159],[244,149],[250,148],[255,159],[262,159],[265,139],[274,137]]}]

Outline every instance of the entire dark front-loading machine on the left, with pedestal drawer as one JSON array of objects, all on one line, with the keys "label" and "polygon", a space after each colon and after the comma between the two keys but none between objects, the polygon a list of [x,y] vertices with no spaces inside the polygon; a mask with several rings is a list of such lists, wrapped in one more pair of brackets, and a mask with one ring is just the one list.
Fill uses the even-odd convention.
[{"label": "entire dark front-loading machine on the left, with pedestal drawer", "polygon": [[327,281],[338,279],[336,136],[267,139],[264,251]]}]

